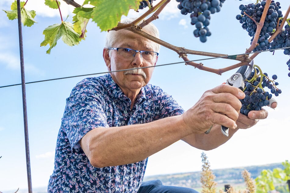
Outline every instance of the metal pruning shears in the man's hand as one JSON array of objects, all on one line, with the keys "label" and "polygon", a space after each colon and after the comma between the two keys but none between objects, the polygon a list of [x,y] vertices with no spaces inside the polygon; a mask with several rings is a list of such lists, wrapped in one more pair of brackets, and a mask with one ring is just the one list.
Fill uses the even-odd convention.
[{"label": "metal pruning shears in the man's hand", "polygon": [[[253,68],[254,68],[254,60],[252,60],[250,62],[250,65],[241,66],[235,74],[231,75],[231,77],[227,79],[225,84],[235,86],[235,87],[243,90],[245,88],[244,81],[245,81],[245,79],[247,79],[249,77]],[[207,130],[205,133],[208,134],[210,132],[210,129],[211,128],[209,128],[209,130]],[[221,125],[221,132],[225,136],[227,136],[227,137],[229,136],[229,128],[227,128],[223,125]]]}]

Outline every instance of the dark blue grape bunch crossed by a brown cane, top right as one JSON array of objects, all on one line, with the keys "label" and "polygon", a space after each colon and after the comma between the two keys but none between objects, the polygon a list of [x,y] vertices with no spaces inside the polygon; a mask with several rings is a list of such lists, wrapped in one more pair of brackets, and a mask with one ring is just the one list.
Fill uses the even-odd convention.
[{"label": "dark blue grape bunch crossed by a brown cane, top right", "polygon": [[[245,29],[250,37],[253,37],[251,40],[254,39],[256,29],[257,29],[257,23],[260,22],[261,16],[264,11],[264,7],[266,5],[266,2],[263,0],[261,3],[250,3],[248,5],[240,5],[239,9],[241,10],[241,14],[236,16],[236,19],[242,23],[242,28]],[[268,41],[268,38],[270,35],[272,35],[274,29],[277,26],[279,17],[282,17],[282,11],[279,2],[274,2],[274,0],[271,2],[267,16],[264,21],[264,26],[260,32],[258,44],[256,48],[253,49],[253,51],[265,51],[270,48],[270,43]],[[280,24],[280,23],[279,23]]]}]

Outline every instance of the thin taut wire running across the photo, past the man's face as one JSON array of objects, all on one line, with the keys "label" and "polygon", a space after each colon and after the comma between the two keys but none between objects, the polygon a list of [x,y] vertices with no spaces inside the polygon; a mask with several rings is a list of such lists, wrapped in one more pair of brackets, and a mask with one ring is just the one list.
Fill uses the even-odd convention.
[{"label": "thin taut wire running across the photo, past the man's face", "polygon": [[[155,68],[155,67],[159,67],[159,66],[182,64],[182,63],[202,61],[202,60],[211,60],[211,59],[216,59],[216,58],[225,58],[225,57],[231,58],[231,57],[234,57],[234,56],[249,55],[249,54],[254,54],[254,53],[261,53],[261,52],[266,52],[266,51],[275,51],[275,50],[288,49],[288,48],[290,48],[290,47],[276,48],[276,49],[264,50],[264,51],[256,51],[256,52],[250,52],[250,53],[246,53],[246,54],[243,53],[243,54],[233,54],[233,55],[219,56],[219,57],[211,57],[211,58],[202,58],[202,59],[196,59],[196,60],[188,60],[188,61],[181,61],[181,62],[160,64],[160,65],[155,65],[155,66],[145,66],[145,67],[139,67],[139,68],[128,68],[128,69],[124,69],[124,70],[115,70],[115,71],[107,71],[107,72],[97,72],[97,73],[92,73],[92,74],[67,76],[67,77],[61,77],[61,78],[55,78],[55,79],[38,80],[38,81],[33,81],[33,82],[26,82],[25,84],[31,84],[31,83],[37,83],[37,82],[46,82],[46,81],[60,80],[60,79],[69,79],[69,78],[75,78],[75,77],[81,77],[81,76],[90,76],[90,75],[106,74],[106,73],[110,73],[110,72],[121,72],[121,71],[127,71],[127,70],[133,70],[133,69],[141,69],[141,68]],[[21,85],[21,84],[11,84],[11,85],[6,85],[6,86],[0,86],[0,88],[10,87],[10,86],[17,86],[17,85]]]}]

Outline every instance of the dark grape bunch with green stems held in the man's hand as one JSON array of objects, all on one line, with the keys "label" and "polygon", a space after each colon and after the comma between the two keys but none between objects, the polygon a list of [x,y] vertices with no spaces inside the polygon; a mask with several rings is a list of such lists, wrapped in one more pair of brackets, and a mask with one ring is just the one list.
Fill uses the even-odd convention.
[{"label": "dark grape bunch with green stems held in the man's hand", "polygon": [[[277,88],[279,84],[275,80],[277,75],[272,76],[272,80],[268,77],[267,73],[262,73],[260,67],[255,65],[254,71],[251,73],[248,79],[245,80],[245,98],[241,100],[242,108],[240,112],[248,115],[250,111],[259,111],[263,106],[270,104],[269,100],[272,98],[272,94],[276,97],[281,94],[281,89]],[[265,91],[265,88],[270,89],[270,93]]]}]

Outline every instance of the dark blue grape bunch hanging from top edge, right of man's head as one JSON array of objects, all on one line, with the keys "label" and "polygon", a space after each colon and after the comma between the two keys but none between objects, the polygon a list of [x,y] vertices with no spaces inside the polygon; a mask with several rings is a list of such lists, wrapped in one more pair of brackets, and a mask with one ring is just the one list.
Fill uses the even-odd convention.
[{"label": "dark blue grape bunch hanging from top edge, right of man's head", "polygon": [[191,24],[195,25],[193,31],[195,37],[199,37],[201,42],[206,42],[207,37],[211,35],[209,31],[210,14],[220,12],[225,0],[176,0],[179,2],[177,8],[181,14],[190,14]]}]

